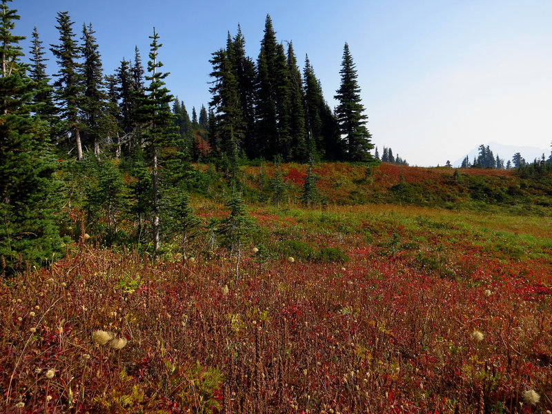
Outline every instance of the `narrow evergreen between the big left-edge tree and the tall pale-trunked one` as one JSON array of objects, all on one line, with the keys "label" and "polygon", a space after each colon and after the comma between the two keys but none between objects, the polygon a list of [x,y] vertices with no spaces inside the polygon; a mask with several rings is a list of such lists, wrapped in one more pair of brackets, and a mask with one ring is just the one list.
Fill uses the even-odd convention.
[{"label": "narrow evergreen between the big left-edge tree and the tall pale-trunked one", "polygon": [[39,40],[37,26],[32,31],[32,45],[30,48],[30,66],[29,77],[37,83],[37,93],[32,97],[35,106],[35,113],[48,122],[48,126],[53,128],[57,122],[57,108],[54,105],[52,86],[50,86],[50,77],[46,74],[46,63],[48,59],[44,57],[46,52]]}]

